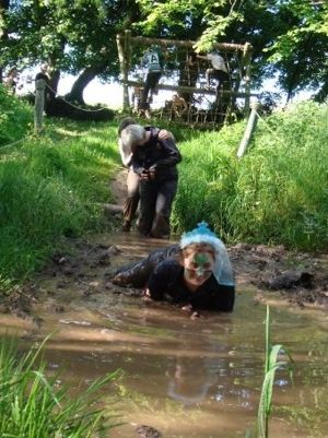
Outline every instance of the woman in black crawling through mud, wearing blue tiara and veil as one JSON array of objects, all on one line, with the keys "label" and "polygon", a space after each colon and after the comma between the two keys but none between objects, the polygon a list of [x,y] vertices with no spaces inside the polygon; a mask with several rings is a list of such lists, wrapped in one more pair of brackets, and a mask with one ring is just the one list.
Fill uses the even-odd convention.
[{"label": "woman in black crawling through mud, wearing blue tiara and veil", "polygon": [[[233,310],[233,269],[224,244],[206,222],[185,233],[179,245],[166,248],[163,254],[164,260],[157,265],[153,264],[155,257],[161,259],[159,251],[155,257],[150,254],[143,262],[137,263],[137,269],[131,267],[117,273],[113,283],[132,286],[137,283],[138,287],[139,270],[143,279],[144,273],[150,274],[143,292],[148,300],[166,300],[178,305],[189,311],[191,318],[199,316],[198,310]],[[174,259],[175,254],[178,254],[178,260]]]}]

